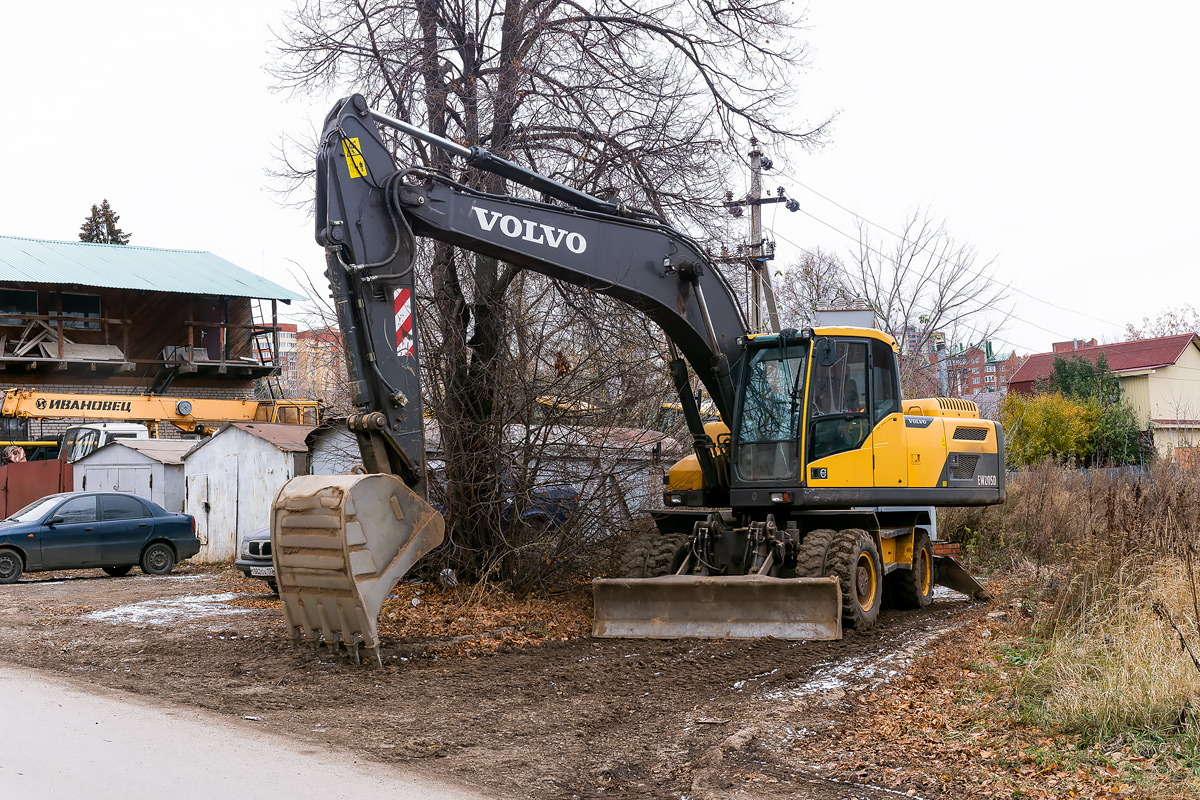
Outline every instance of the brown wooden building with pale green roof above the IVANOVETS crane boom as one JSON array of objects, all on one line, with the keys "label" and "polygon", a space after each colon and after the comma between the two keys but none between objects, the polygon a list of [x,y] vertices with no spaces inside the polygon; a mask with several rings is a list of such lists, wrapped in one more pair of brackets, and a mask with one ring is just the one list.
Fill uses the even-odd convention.
[{"label": "brown wooden building with pale green roof above the IVANOVETS crane boom", "polygon": [[280,363],[278,303],[298,300],[203,251],[0,236],[0,389],[250,397]]}]

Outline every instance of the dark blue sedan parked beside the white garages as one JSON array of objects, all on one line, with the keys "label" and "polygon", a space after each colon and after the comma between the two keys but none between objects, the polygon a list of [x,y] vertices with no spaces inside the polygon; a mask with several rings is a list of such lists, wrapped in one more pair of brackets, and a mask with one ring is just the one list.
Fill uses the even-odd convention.
[{"label": "dark blue sedan parked beside the white garages", "polygon": [[35,500],[0,522],[0,583],[22,572],[140,566],[167,575],[200,552],[196,519],[120,492],[68,492]]}]

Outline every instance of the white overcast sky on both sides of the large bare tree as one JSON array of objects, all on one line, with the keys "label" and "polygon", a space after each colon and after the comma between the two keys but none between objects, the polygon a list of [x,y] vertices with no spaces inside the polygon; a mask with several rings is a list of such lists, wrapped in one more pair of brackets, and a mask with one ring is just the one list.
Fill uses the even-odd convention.
[{"label": "white overcast sky on both sides of the large bare tree", "polygon": [[[290,5],[8,4],[0,234],[76,240],[108,198],[134,245],[211,251],[307,291],[322,252],[265,170],[283,136],[316,136],[334,96],[269,91],[269,26]],[[1115,341],[1127,321],[1198,305],[1200,7],[808,8],[802,108],[839,116],[823,151],[770,154],[766,185],[806,212],[766,213],[779,265],[847,252],[854,215],[898,230],[928,206],[1019,290],[1002,348]]]}]

